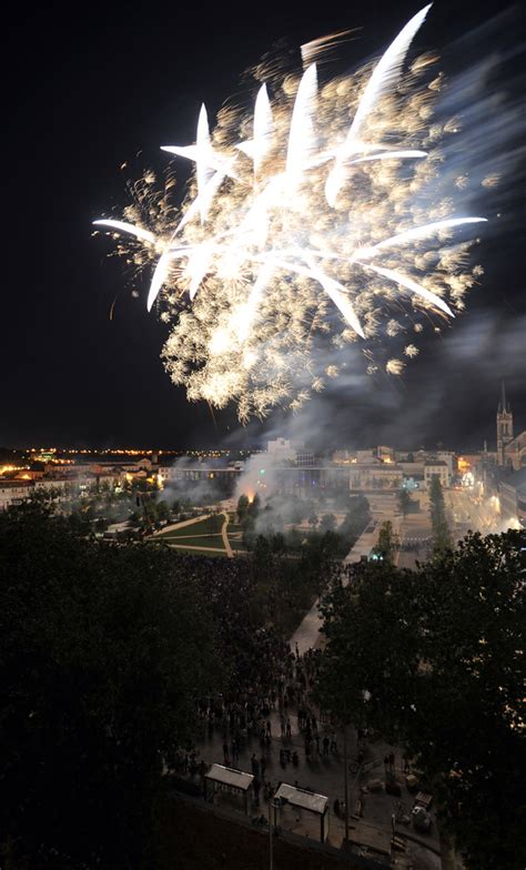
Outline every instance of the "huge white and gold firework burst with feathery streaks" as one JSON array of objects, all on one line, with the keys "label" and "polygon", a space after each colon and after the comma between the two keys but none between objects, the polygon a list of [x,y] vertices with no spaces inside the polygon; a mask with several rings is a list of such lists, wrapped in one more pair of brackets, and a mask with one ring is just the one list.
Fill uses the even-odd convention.
[{"label": "huge white and gold firework burst with feathery streaks", "polygon": [[179,209],[173,175],[158,191],[150,173],[125,220],[95,221],[153,270],[146,306],[170,325],[164,365],[190,401],[234,402],[243,422],[296,409],[348,365],[350,345],[370,373],[399,375],[405,362],[376,350],[403,333],[411,360],[424,323],[463,310],[482,270],[462,227],[485,219],[439,193],[448,125],[433,115],[433,59],[404,71],[428,9],[353,77],[320,84],[310,62],[342,34],[303,47],[301,75],[260,68],[253,112],[225,108],[211,131],[203,105],[195,144],[162,148],[193,164]]}]

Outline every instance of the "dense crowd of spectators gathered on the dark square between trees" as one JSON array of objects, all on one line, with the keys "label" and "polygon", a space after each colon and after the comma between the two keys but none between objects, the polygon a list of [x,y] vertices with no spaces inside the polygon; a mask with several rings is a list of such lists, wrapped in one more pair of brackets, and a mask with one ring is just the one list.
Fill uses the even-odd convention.
[{"label": "dense crowd of spectators gathered on the dark square between trees", "polygon": [[[303,760],[326,759],[338,752],[331,719],[318,710],[313,696],[322,652],[310,649],[302,656],[297,645],[291,649],[272,624],[255,623],[252,603],[256,585],[249,560],[181,558],[212,607],[230,671],[226,686],[199,701],[203,739],[209,743],[221,741],[221,760],[234,768],[240,753],[259,745],[250,759],[253,788],[256,799],[261,791],[267,798],[272,791],[271,756],[284,772]],[[332,579],[340,576],[348,581],[353,571],[353,566],[334,566]],[[182,770],[193,776],[206,771],[196,750],[183,753],[180,762]]]}]

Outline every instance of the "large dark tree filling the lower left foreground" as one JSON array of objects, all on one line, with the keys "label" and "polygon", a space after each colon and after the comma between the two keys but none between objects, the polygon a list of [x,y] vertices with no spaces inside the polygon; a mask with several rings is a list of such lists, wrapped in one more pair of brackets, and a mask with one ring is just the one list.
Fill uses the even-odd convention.
[{"label": "large dark tree filling the lower left foreground", "polygon": [[154,866],[163,761],[192,740],[218,676],[208,603],[180,564],[168,548],[79,538],[39,506],[0,515],[0,853],[12,867]]}]

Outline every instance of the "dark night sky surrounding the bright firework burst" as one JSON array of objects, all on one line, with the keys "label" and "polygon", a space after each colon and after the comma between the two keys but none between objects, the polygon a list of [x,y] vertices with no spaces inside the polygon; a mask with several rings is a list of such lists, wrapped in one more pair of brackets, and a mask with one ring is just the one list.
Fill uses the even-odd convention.
[{"label": "dark night sky surrounding the bright firework burst", "polygon": [[[215,428],[205,405],[189,405],[171,385],[159,358],[165,330],[146,315],[144,296],[130,296],[121,263],[91,237],[91,221],[125,204],[121,163],[142,151],[141,168],[159,165],[160,144],[193,141],[200,103],[213,114],[276,40],[295,47],[363,27],[348,48],[355,65],[385,48],[419,8],[405,0],[321,2],[318,11],[305,2],[221,2],[212,12],[209,3],[184,6],[52,3],[28,13],[14,3],[3,13],[0,445],[181,448],[257,437],[257,427],[237,431],[233,412],[219,414]],[[524,18],[512,10],[469,50],[462,40],[499,11],[498,2],[437,2],[417,44],[437,49],[452,69],[472,63],[476,44],[510,52],[510,62],[497,64],[502,83],[494,77],[493,84],[513,102]],[[483,286],[454,328],[426,345],[402,383],[371,381],[366,393],[324,398],[331,445],[396,438],[478,446],[493,438],[503,376],[526,425],[518,188],[507,182],[500,194],[504,223],[477,252]],[[267,427],[286,424],[276,414]]]}]

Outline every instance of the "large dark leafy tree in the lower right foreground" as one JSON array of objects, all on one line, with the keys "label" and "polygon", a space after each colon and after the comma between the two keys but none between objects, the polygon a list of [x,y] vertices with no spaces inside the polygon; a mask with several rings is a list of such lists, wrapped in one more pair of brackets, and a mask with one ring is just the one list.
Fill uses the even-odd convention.
[{"label": "large dark leafy tree in the lower right foreground", "polygon": [[405,742],[468,870],[526,863],[522,546],[469,534],[416,571],[366,565],[323,603],[321,700]]}]

